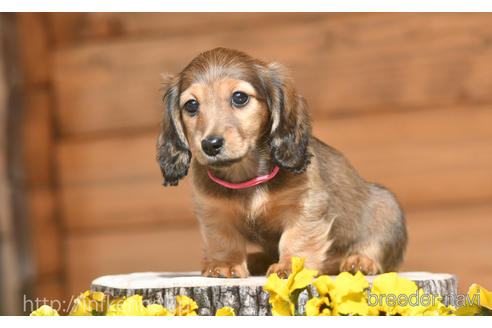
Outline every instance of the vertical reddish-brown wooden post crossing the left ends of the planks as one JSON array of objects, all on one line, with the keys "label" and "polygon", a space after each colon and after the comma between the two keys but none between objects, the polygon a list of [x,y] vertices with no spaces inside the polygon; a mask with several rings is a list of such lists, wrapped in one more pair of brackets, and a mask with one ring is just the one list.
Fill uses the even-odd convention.
[{"label": "vertical reddish-brown wooden post crossing the left ends of the planks", "polygon": [[[45,14],[16,13],[24,84],[21,127],[30,245],[39,299],[63,299],[60,221],[53,193],[53,124]],[[25,227],[24,227],[25,228]],[[68,300],[64,300],[68,304]],[[30,311],[28,311],[30,312]],[[28,313],[27,313],[28,314]]]}]

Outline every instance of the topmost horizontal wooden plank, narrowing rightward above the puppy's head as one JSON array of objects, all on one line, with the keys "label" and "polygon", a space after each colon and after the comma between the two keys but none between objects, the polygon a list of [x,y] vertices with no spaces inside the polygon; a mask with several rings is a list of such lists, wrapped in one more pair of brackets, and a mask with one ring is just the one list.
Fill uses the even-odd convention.
[{"label": "topmost horizontal wooden plank, narrowing rightward above the puppy's head", "polygon": [[[316,20],[322,13],[49,13],[49,31],[57,48],[73,44],[148,36],[213,33],[227,26],[265,26]],[[332,19],[358,15],[332,14]]]}]

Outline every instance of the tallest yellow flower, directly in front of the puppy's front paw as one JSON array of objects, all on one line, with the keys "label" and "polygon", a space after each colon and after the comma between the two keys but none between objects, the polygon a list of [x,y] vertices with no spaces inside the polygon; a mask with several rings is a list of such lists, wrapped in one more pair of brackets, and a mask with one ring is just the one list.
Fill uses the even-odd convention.
[{"label": "tallest yellow flower, directly in front of the puppy's front paw", "polygon": [[304,258],[292,257],[292,273],[287,281],[279,278],[276,273],[268,276],[263,289],[270,292],[269,302],[272,304],[272,315],[286,316],[295,314],[298,293],[312,281],[316,270],[304,268]]}]

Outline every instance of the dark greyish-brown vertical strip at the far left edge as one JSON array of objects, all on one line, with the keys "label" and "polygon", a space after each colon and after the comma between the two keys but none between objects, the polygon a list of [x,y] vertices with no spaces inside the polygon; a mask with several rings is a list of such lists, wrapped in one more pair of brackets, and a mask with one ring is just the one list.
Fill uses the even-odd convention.
[{"label": "dark greyish-brown vertical strip at the far left edge", "polygon": [[21,156],[22,84],[14,13],[0,14],[0,313],[22,313],[32,254]]}]

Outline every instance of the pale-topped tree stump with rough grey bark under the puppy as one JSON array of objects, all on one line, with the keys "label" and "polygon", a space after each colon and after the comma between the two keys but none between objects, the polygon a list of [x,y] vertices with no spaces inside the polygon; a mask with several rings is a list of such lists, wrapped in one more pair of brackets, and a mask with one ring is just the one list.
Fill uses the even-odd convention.
[{"label": "pale-topped tree stump with rough grey bark under the puppy", "polygon": [[[456,295],[458,282],[454,275],[429,272],[402,272],[399,276],[415,281],[426,294]],[[366,276],[371,283],[377,276]],[[334,278],[334,276],[332,276]],[[113,297],[143,296],[145,304],[162,304],[169,310],[176,308],[176,296],[186,295],[198,304],[198,315],[215,315],[223,306],[234,308],[236,315],[271,315],[269,293],[263,290],[266,277],[225,279],[201,277],[198,272],[143,272],[103,276],[92,282],[93,291]],[[313,286],[308,287],[318,296]],[[299,296],[298,311],[305,313],[309,299],[307,291]],[[449,305],[446,297],[446,305]]]}]

